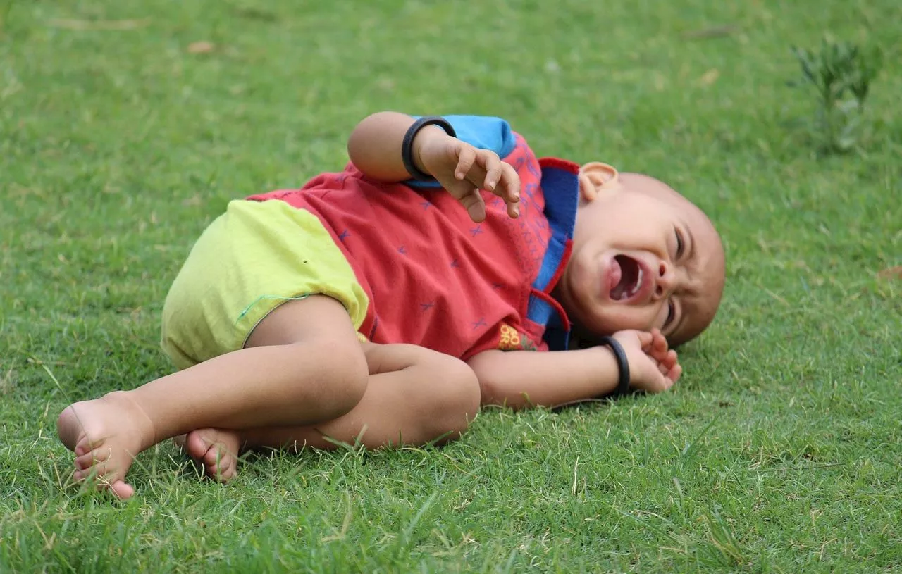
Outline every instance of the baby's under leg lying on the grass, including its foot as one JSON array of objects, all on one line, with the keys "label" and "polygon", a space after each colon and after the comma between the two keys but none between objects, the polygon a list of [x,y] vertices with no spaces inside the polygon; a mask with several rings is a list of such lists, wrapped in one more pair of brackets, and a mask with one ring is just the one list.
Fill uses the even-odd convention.
[{"label": "baby's under leg lying on the grass, including its foot", "polygon": [[[210,477],[235,474],[243,449],[313,446],[335,442],[375,449],[401,444],[446,442],[463,433],[479,409],[479,382],[465,362],[415,345],[365,343],[369,384],[361,401],[333,420],[243,431],[202,429],[189,433],[186,450]],[[330,440],[329,440],[330,439]]]}]

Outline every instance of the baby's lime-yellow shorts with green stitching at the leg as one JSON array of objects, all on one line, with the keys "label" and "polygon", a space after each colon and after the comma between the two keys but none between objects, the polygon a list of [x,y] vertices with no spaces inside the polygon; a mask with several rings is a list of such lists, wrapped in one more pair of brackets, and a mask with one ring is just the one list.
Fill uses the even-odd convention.
[{"label": "baby's lime-yellow shorts with green stitching at the leg", "polygon": [[[262,323],[272,323],[270,314],[289,313],[284,309],[296,300],[319,300],[315,296],[326,296],[325,302],[310,308],[341,301],[341,316],[350,316],[354,327],[363,323],[367,296],[316,215],[278,200],[231,202],[173,281],[163,307],[163,350],[185,369],[259,345],[259,335],[256,343],[250,337]],[[297,330],[292,333],[276,339]]]}]

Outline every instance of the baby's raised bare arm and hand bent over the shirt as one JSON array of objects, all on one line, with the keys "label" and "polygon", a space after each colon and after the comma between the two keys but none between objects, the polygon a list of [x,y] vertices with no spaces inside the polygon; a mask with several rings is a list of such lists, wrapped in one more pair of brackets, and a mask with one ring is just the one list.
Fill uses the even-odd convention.
[{"label": "baby's raised bare arm and hand bent over the shirt", "polygon": [[[401,158],[404,136],[415,120],[407,114],[379,112],[367,116],[347,141],[348,156],[357,169],[373,179],[400,182],[411,178]],[[448,135],[436,125],[419,129],[410,148],[410,159],[419,171],[436,178],[446,191],[464,205],[474,222],[485,219],[480,189],[501,197],[508,214],[517,217],[520,177],[492,150]]]}]

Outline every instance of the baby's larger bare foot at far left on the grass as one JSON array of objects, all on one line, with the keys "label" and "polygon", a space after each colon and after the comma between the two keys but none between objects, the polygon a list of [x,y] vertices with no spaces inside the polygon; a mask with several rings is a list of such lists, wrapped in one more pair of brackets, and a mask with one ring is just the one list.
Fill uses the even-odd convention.
[{"label": "baby's larger bare foot at far left on the grass", "polygon": [[124,481],[139,452],[154,442],[153,424],[123,391],[69,405],[57,420],[60,440],[75,452],[75,479],[97,480],[117,498],[134,494]]}]

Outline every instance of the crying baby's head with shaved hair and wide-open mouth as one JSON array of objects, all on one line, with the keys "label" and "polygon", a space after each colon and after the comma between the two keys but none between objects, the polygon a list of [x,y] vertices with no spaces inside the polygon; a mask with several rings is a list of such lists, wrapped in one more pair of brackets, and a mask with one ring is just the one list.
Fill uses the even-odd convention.
[{"label": "crying baby's head with shaved hair and wide-open mouth", "polygon": [[658,179],[588,163],[573,251],[555,296],[584,337],[658,327],[671,345],[711,323],[723,293],[720,235]]}]

